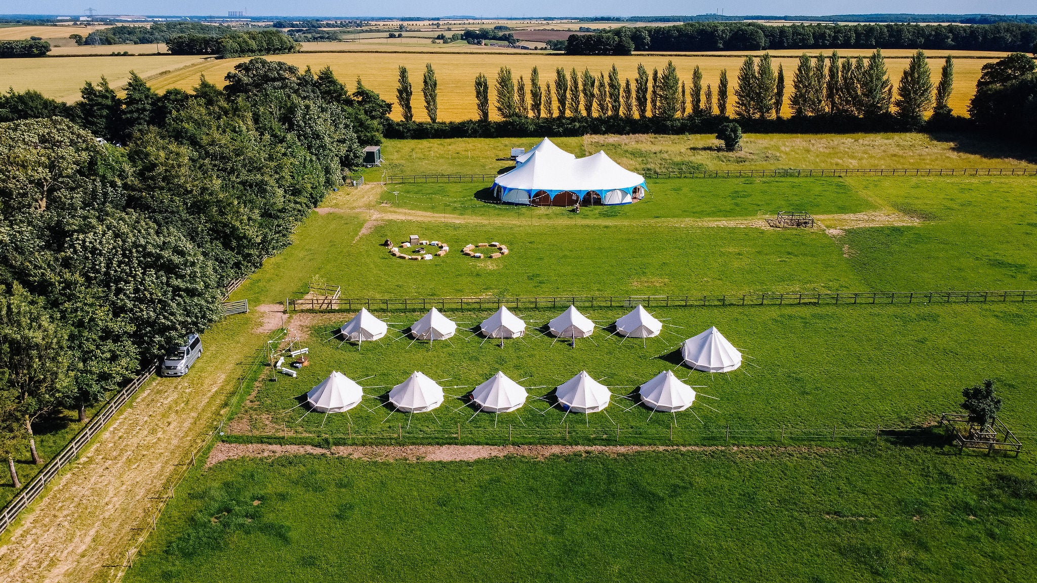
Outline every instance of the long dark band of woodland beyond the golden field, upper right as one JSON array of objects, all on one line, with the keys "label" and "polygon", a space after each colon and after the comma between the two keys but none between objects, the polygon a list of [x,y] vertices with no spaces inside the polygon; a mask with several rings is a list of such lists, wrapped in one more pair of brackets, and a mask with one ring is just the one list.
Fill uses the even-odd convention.
[{"label": "long dark band of woodland beyond the golden field, upper right", "polygon": [[632,51],[763,51],[779,49],[955,49],[1037,52],[1037,25],[962,26],[890,24],[790,24],[693,22],[675,26],[620,27],[572,34],[570,55],[628,55]]}]

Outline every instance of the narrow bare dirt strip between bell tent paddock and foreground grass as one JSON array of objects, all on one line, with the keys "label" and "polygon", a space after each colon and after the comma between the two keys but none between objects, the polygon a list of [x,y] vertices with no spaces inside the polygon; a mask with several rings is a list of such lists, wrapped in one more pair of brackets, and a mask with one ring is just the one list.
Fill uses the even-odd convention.
[{"label": "narrow bare dirt strip between bell tent paddock and foreground grass", "polygon": [[237,457],[276,457],[279,455],[335,455],[368,462],[404,460],[408,462],[471,462],[489,457],[517,455],[545,460],[553,455],[604,453],[620,455],[640,451],[738,451],[775,450],[818,452],[831,447],[736,446],[736,445],[336,445],[331,450],[311,445],[271,445],[261,443],[218,443],[205,460],[205,467]]}]

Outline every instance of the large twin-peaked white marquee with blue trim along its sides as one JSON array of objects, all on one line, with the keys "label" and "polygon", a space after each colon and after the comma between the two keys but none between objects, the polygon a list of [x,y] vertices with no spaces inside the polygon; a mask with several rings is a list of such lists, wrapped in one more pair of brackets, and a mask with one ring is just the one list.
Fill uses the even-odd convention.
[{"label": "large twin-peaked white marquee with blue trim along its sides", "polygon": [[536,206],[629,204],[644,197],[645,179],[598,151],[577,158],[544,138],[515,159],[515,169],[497,176],[501,202]]}]

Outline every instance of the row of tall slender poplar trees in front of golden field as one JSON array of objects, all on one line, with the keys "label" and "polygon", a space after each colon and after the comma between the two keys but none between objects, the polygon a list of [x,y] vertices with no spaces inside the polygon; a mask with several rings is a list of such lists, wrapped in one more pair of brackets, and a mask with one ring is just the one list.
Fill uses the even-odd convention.
[{"label": "row of tall slender poplar trees in front of golden field", "polygon": [[[881,51],[871,56],[840,58],[836,51],[830,56],[806,54],[792,75],[789,105],[795,116],[842,114],[875,117],[891,113],[908,124],[918,124],[932,110],[949,115],[948,106],[954,83],[951,57],[943,67],[940,83],[934,87],[925,53],[918,51],[900,78],[897,99],[893,99],[893,83],[886,68]],[[673,61],[660,72],[638,64],[634,80],[620,81],[613,64],[607,73],[596,76],[589,68],[568,73],[555,70],[554,81],[541,85],[540,72],[533,67],[527,83],[517,80],[511,68],[502,66],[494,83],[494,108],[503,119],[516,117],[626,117],[674,118],[720,115],[741,118],[779,118],[785,106],[786,79],[784,67],[775,71],[769,54],[758,59],[748,56],[738,70],[731,103],[727,70],[721,71],[716,92],[711,84],[702,85],[698,65],[692,73],[691,86],[677,76]],[[935,92],[934,92],[935,89]],[[407,67],[399,67],[396,101],[404,121],[414,120],[412,98],[414,88]],[[422,79],[425,111],[431,121],[438,119],[438,86],[431,63],[425,65]],[[489,120],[491,81],[484,74],[475,79],[475,100],[478,118]]]}]

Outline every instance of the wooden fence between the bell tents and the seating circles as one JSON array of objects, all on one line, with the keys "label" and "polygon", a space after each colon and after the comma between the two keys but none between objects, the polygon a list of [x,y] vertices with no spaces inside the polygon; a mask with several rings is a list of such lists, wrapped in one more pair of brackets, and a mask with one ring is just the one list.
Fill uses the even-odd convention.
[{"label": "wooden fence between the bell tents and the seating circles", "polygon": [[794,294],[742,294],[722,296],[543,296],[514,298],[295,298],[285,308],[309,311],[427,310],[437,308],[485,310],[513,309],[885,305],[885,304],[986,304],[1037,302],[1037,290],[972,292],[832,292]]}]

